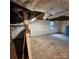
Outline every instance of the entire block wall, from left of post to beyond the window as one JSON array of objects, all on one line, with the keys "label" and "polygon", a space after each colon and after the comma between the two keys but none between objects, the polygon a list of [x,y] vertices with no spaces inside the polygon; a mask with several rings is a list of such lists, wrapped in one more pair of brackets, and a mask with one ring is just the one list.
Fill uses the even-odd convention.
[{"label": "entire block wall, from left of post to beyond the window", "polygon": [[[65,26],[68,25],[68,21],[55,21],[55,29],[53,31],[50,30],[50,21],[37,21],[29,23],[29,27],[31,30],[31,36],[39,36],[46,35],[55,32],[64,32]],[[14,39],[24,27],[17,27],[12,30],[12,38]]]}]

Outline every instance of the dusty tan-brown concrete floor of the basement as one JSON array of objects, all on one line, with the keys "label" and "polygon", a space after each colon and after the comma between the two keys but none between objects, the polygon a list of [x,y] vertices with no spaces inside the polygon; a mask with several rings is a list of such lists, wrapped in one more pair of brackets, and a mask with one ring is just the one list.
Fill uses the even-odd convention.
[{"label": "dusty tan-brown concrete floor of the basement", "polygon": [[[43,35],[32,38],[33,59],[69,59],[69,42],[55,36]],[[12,48],[13,47],[13,48]],[[11,58],[17,59],[15,47],[11,43]],[[12,51],[13,50],[13,51]],[[15,55],[15,56],[14,56]]]}]

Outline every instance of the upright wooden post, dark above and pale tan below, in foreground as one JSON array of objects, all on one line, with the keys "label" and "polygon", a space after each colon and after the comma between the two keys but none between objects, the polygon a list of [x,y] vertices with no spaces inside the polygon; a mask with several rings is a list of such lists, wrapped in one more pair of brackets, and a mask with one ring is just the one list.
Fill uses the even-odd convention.
[{"label": "upright wooden post, dark above and pale tan below, in foreground", "polygon": [[26,41],[26,45],[27,45],[27,50],[28,50],[28,57],[29,59],[32,59],[32,46],[31,46],[31,38],[30,38],[30,29],[29,29],[29,24],[28,24],[28,15],[26,12],[23,12],[24,15],[24,27],[25,27],[25,40]]}]

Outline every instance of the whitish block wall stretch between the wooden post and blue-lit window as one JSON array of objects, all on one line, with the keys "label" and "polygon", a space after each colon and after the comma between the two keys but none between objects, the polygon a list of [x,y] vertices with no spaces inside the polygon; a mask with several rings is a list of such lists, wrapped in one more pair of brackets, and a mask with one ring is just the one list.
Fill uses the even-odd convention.
[{"label": "whitish block wall stretch between the wooden post and blue-lit window", "polygon": [[50,21],[38,21],[30,23],[31,36],[39,36],[54,33],[56,30],[50,30]]}]

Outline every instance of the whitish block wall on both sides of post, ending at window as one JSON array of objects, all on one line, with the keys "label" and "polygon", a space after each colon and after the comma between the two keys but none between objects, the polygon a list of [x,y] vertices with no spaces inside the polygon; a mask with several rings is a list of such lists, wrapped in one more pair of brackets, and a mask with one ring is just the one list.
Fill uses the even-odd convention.
[{"label": "whitish block wall on both sides of post, ending at window", "polygon": [[[50,30],[50,21],[37,21],[37,22],[30,22],[29,28],[31,30],[31,36],[39,36],[45,34],[54,33],[56,30]],[[24,26],[17,27],[16,29],[12,29],[12,38],[14,39],[22,30]]]}]

